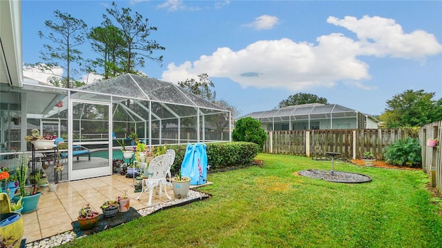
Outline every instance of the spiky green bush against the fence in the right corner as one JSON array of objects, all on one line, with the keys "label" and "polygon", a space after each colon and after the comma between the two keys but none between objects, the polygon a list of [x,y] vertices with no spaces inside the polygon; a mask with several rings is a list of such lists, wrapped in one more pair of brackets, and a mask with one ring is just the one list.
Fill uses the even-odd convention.
[{"label": "spiky green bush against the fence in the right corner", "polygon": [[420,167],[422,163],[419,138],[397,140],[385,149],[383,157],[387,163],[406,167]]}]

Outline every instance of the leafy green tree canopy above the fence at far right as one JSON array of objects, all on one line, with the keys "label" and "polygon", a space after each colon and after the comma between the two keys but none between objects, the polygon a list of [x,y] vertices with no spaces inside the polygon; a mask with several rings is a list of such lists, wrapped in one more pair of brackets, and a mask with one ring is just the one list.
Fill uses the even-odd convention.
[{"label": "leafy green tree canopy above the fence at far right", "polygon": [[387,101],[379,119],[387,128],[421,127],[442,119],[442,99],[433,100],[435,92],[405,90]]}]

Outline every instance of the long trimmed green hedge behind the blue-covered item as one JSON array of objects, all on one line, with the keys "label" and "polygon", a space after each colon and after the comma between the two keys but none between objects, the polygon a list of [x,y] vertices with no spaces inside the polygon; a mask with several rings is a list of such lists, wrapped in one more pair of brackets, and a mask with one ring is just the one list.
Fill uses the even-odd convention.
[{"label": "long trimmed green hedge behind the blue-covered item", "polygon": [[[207,143],[207,163],[210,169],[223,169],[233,166],[249,165],[258,155],[259,146],[251,142]],[[175,162],[171,167],[172,174],[181,168],[187,145],[166,145],[175,150]]]}]

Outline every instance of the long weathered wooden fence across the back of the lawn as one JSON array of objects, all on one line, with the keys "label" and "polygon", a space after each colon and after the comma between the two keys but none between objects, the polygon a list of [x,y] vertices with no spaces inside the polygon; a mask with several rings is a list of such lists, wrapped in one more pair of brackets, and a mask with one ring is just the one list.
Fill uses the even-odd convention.
[{"label": "long weathered wooden fence across the back of the lawn", "polygon": [[417,138],[418,134],[411,129],[267,131],[264,152],[302,156],[340,152],[341,158],[361,158],[364,152],[371,152],[382,160],[385,147],[407,137]]}]

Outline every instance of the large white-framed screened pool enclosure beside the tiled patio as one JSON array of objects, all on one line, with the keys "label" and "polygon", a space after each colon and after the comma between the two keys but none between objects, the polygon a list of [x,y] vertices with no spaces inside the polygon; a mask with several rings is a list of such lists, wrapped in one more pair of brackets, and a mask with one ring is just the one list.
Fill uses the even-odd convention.
[{"label": "large white-framed screened pool enclosure beside the tiled patio", "polygon": [[229,111],[145,76],[124,74],[69,90],[30,79],[21,88],[0,87],[0,165],[14,163],[23,152],[30,155],[25,136],[37,128],[67,144],[36,152],[39,159],[64,160],[64,180],[112,174],[117,140],[132,149],[131,134],[148,147],[231,139]]}]

